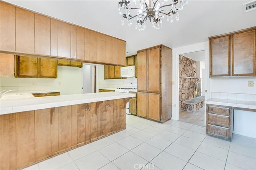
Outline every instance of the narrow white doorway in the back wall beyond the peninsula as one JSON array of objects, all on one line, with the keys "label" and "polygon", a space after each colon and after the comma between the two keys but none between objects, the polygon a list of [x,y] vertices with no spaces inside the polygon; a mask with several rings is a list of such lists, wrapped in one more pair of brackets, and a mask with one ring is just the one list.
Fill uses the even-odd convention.
[{"label": "narrow white doorway in the back wall beyond the peninsula", "polygon": [[83,64],[83,93],[96,92],[96,65]]}]

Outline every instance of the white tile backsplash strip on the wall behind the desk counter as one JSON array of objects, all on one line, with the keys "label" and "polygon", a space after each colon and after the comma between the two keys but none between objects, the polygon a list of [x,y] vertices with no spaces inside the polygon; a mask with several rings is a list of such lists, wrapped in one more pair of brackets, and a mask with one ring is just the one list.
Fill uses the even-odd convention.
[{"label": "white tile backsplash strip on the wall behind the desk counter", "polygon": [[256,101],[256,94],[242,94],[242,93],[218,93],[212,92],[211,98],[227,99],[227,100],[242,100],[242,101]]}]

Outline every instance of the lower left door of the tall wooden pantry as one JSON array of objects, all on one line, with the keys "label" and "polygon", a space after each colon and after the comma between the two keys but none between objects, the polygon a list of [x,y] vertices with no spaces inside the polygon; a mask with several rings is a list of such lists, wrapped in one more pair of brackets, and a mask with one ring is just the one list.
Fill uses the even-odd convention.
[{"label": "lower left door of the tall wooden pantry", "polygon": [[148,117],[148,94],[137,93],[137,115]]}]

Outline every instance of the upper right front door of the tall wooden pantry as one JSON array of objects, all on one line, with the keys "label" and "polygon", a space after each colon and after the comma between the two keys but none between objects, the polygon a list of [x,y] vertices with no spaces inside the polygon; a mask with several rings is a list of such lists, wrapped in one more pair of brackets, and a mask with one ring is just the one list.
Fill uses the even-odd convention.
[{"label": "upper right front door of the tall wooden pantry", "polygon": [[148,50],[148,92],[160,92],[160,47]]}]

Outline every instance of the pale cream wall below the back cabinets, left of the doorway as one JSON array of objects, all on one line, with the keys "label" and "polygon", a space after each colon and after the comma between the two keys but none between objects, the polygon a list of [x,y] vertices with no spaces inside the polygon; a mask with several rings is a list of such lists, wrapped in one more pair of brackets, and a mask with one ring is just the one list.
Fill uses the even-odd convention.
[{"label": "pale cream wall below the back cabinets, left of the doorway", "polygon": [[[35,85],[33,85],[33,82]],[[0,88],[16,90],[60,90],[60,95],[82,93],[82,68],[58,66],[58,78],[1,77]]]}]

